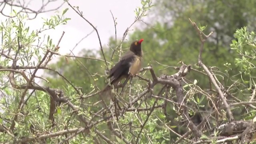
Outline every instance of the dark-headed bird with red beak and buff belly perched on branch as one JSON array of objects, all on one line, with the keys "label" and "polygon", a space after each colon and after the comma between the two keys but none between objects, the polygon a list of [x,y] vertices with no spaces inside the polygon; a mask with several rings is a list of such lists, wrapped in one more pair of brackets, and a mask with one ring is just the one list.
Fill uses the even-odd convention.
[{"label": "dark-headed bird with red beak and buff belly perched on branch", "polygon": [[[130,44],[130,50],[126,52],[120,61],[110,70],[108,78],[110,78],[110,84],[116,87],[118,82],[123,78],[128,78],[129,75],[135,76],[142,65],[143,51],[141,48],[141,43],[144,39],[136,40]],[[109,88],[110,86],[106,86]],[[106,90],[104,88],[104,90]]]}]

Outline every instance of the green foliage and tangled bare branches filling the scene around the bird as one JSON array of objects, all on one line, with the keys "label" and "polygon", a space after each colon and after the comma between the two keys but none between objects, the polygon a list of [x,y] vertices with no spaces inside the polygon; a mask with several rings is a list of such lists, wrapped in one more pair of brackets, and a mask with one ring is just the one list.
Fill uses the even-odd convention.
[{"label": "green foliage and tangled bare branches filling the scene around the bird", "polygon": [[[68,24],[68,10],[86,20],[79,7],[63,2],[68,7],[44,19],[40,31],[26,26],[28,8],[14,9],[1,22],[0,142],[254,141],[256,2],[141,0],[134,31],[129,27],[123,38],[111,36],[98,50],[61,55],[51,35],[43,40],[40,34]],[[140,38],[143,68],[102,96],[109,70]],[[42,44],[34,45],[36,40]],[[59,59],[49,64],[53,56]],[[44,74],[38,76],[38,70]]]}]

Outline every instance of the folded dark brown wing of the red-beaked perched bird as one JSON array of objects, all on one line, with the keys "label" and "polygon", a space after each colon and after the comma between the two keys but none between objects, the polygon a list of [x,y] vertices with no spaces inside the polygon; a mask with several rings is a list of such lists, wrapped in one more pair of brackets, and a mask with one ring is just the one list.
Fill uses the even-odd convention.
[{"label": "folded dark brown wing of the red-beaked perched bird", "polygon": [[123,76],[128,76],[129,68],[136,55],[133,52],[127,52],[120,61],[110,70],[110,83],[120,80]]}]

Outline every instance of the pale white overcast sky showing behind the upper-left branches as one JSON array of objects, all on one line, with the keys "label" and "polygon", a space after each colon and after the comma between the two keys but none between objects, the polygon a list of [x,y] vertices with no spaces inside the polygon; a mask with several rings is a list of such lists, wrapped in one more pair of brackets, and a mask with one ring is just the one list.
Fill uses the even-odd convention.
[{"label": "pale white overcast sky showing behind the upper-left branches", "polygon": [[[62,0],[59,0],[58,2],[47,6],[46,9],[54,8],[54,6],[60,5],[61,2]],[[117,36],[121,38],[126,28],[130,26],[135,19],[135,8],[141,5],[140,0],[69,0],[69,2],[73,6],[79,6],[80,11],[83,11],[84,17],[94,26],[97,26],[102,44],[107,44],[108,38],[115,34],[114,22],[110,10],[114,17],[117,18]],[[28,7],[37,8],[41,5],[39,0],[32,0]],[[61,54],[69,53],[69,50],[72,50],[80,39],[93,30],[93,28],[67,4],[64,4],[60,8],[60,11],[65,8],[69,8],[65,16],[71,18],[71,20],[68,21],[68,24],[58,26],[55,30],[48,30],[44,33],[46,35],[50,34],[51,38],[54,40],[54,44],[56,44],[62,31],[65,31],[64,37],[60,43]],[[50,18],[53,14],[54,12],[40,14],[35,20],[31,20],[27,22],[27,24],[32,29],[40,29],[42,17]],[[93,32],[93,34],[84,39],[76,47],[74,53],[77,54],[82,48],[98,49],[99,47],[98,37],[96,32]]]}]

